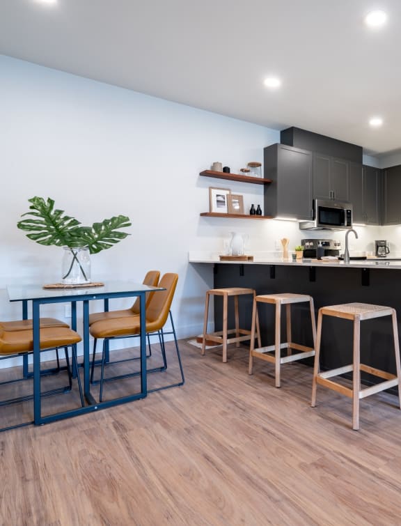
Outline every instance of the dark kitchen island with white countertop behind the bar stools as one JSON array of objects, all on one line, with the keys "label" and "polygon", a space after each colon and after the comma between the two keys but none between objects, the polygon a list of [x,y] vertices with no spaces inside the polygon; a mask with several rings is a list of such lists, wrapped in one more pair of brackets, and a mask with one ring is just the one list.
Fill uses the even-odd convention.
[{"label": "dark kitchen island with white countertop behind the bar stools", "polygon": [[[289,261],[271,256],[255,256],[254,261],[219,261],[218,255],[190,253],[194,265],[214,267],[214,287],[255,288],[257,294],[292,292],[309,294],[315,309],[324,305],[363,302],[394,307],[401,322],[401,261],[356,260]],[[246,298],[244,298],[246,301]],[[312,345],[308,308],[293,307],[294,340]],[[251,325],[251,299],[241,309],[242,326]],[[274,342],[274,311],[262,314],[262,345]],[[221,330],[221,305],[215,302],[216,330]],[[233,316],[231,314],[231,316]],[[233,322],[233,320],[231,320]],[[284,327],[283,327],[284,329]],[[285,333],[284,333],[285,334]],[[352,361],[352,323],[339,318],[324,320],[322,333],[322,369],[334,369]],[[309,361],[308,361],[309,360]],[[395,373],[391,318],[377,318],[361,324],[361,361]],[[311,364],[311,359],[306,359]],[[375,382],[364,375],[364,382]]]}]

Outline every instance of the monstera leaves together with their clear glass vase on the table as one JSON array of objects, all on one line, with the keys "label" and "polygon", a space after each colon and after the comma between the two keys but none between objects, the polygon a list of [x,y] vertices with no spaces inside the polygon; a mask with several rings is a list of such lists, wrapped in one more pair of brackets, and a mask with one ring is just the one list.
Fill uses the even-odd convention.
[{"label": "monstera leaves together with their clear glass vase on the table", "polygon": [[45,200],[35,196],[28,201],[31,203],[30,211],[22,214],[22,217],[31,217],[19,221],[17,227],[29,232],[26,236],[40,245],[65,248],[68,258],[67,263],[63,265],[64,283],[68,283],[69,279],[70,282],[88,283],[90,267],[87,266],[88,257],[85,260],[85,252],[97,254],[129,235],[119,231],[131,226],[129,217],[125,215],[104,219],[101,223],[93,223],[92,226],[82,226],[78,219],[65,215],[64,210],[54,208],[54,200],[49,197]]}]

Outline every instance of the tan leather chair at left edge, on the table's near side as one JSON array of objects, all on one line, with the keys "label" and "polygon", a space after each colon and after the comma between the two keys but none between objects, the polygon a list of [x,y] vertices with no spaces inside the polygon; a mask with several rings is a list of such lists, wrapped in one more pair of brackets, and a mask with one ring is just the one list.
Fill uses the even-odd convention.
[{"label": "tan leather chair at left edge, on the table's near side", "polygon": [[[51,318],[48,318],[48,320]],[[42,318],[41,324],[47,325],[45,327],[40,327],[40,350],[55,350],[63,347],[65,350],[65,361],[67,363],[67,372],[68,372],[68,387],[60,387],[58,389],[52,389],[51,391],[42,393],[42,395],[49,396],[50,394],[59,394],[61,392],[70,391],[72,388],[72,375],[70,370],[70,359],[68,357],[68,347],[72,347],[72,359],[75,366],[77,366],[77,353],[76,345],[81,341],[81,337],[77,332],[71,330],[68,325],[63,322],[62,326],[58,326],[58,320],[49,322],[45,318]],[[19,320],[15,322],[0,322],[0,359],[6,359],[11,357],[26,356],[33,353],[33,330],[26,329],[21,327],[29,327],[31,320]],[[8,327],[7,330],[5,327]],[[19,327],[19,328],[18,328]],[[79,395],[81,398],[81,404],[84,405],[84,397],[81,389],[81,381],[78,378],[79,385]],[[17,380],[8,380],[1,382],[0,385],[5,385],[13,382],[18,382],[25,380],[25,378],[18,378]],[[15,403],[19,401],[31,400],[33,395],[22,396],[15,399],[8,399],[0,401],[0,406],[9,405],[10,403]],[[32,424],[33,421],[24,422],[22,424],[17,424],[13,426],[8,426],[6,428],[1,428],[0,431],[6,431],[6,429],[12,429],[19,426],[26,426],[27,424]]]}]

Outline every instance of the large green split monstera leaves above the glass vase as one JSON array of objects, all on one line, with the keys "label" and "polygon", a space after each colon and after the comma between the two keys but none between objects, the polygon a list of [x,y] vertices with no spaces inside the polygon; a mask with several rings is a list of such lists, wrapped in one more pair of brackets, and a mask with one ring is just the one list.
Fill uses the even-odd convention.
[{"label": "large green split monstera leaves above the glass vase", "polygon": [[64,210],[54,208],[54,200],[42,197],[32,197],[30,212],[22,214],[31,216],[17,223],[21,230],[31,232],[26,236],[40,243],[40,245],[56,245],[56,247],[83,247],[87,246],[91,254],[97,254],[104,249],[109,249],[127,237],[127,233],[118,229],[131,226],[129,217],[118,215],[104,219],[101,223],[92,226],[81,226],[74,217],[63,215]]}]

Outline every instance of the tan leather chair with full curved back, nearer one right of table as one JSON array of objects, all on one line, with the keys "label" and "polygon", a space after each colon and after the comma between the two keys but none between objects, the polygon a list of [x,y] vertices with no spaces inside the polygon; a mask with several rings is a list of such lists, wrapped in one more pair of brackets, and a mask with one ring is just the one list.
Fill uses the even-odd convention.
[{"label": "tan leather chair with full curved back, nearer one right of table", "polygon": [[[146,333],[147,334],[158,334],[160,348],[162,350],[163,366],[148,369],[147,372],[165,371],[167,369],[166,362],[166,350],[164,346],[164,335],[168,334],[164,332],[163,327],[166,324],[168,316],[170,316],[172,331],[174,335],[175,350],[177,352],[178,364],[180,366],[181,381],[172,385],[166,385],[157,389],[150,389],[148,392],[158,391],[159,389],[166,389],[167,387],[176,387],[184,384],[184,371],[182,370],[182,363],[180,357],[180,350],[178,348],[178,341],[175,334],[175,328],[173,323],[173,316],[171,316],[171,303],[175,293],[175,288],[178,282],[178,274],[164,274],[159,282],[159,286],[165,288],[164,291],[156,292],[150,298],[148,307],[146,309]],[[103,384],[104,384],[104,364],[105,364],[105,342],[111,339],[131,338],[138,336],[141,330],[140,317],[136,314],[132,316],[125,316],[123,318],[112,318],[108,320],[97,321],[90,327],[90,332],[95,342],[97,339],[102,338],[103,341],[103,353],[102,353],[102,372],[100,376],[100,401],[102,401],[103,395]],[[95,351],[95,344],[94,344]],[[92,378],[93,378],[93,366],[95,364],[95,353],[93,353],[92,360]],[[138,372],[125,374],[123,376],[114,376],[113,378],[107,378],[107,380],[118,380],[120,378],[127,378],[128,376],[136,376]]]}]

